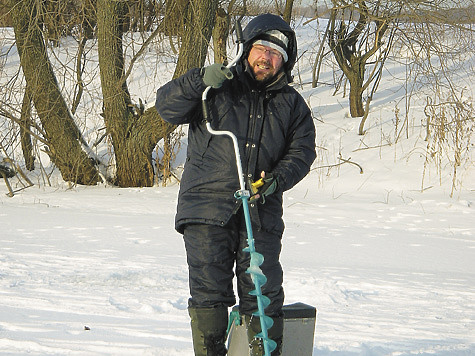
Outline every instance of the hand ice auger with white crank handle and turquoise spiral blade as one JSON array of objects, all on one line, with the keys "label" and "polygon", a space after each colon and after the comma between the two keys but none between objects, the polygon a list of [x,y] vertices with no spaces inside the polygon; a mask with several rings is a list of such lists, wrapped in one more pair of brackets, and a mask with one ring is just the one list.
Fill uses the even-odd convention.
[{"label": "hand ice auger with white crank handle and turquoise spiral blade", "polygon": [[[241,24],[239,21],[236,21],[235,24],[235,30],[236,30],[236,43],[238,44],[238,54],[236,57],[226,66],[227,68],[231,68],[234,66],[241,58],[242,53],[243,53],[243,36],[242,36],[242,29],[241,29]],[[241,155],[239,154],[239,145],[238,145],[238,140],[236,136],[230,132],[230,131],[216,131],[211,127],[211,124],[209,122],[209,109],[207,105],[207,95],[211,87],[207,87],[205,91],[203,92],[203,95],[201,97],[202,99],[202,106],[203,106],[203,118],[206,121],[206,128],[212,135],[225,135],[229,136],[233,140],[233,146],[234,146],[234,153],[235,153],[235,158],[236,158],[236,166],[237,166],[237,171],[239,175],[239,186],[240,189],[234,193],[234,197],[236,199],[240,199],[242,202],[242,207],[244,211],[244,219],[246,222],[246,232],[247,232],[247,244],[248,246],[244,248],[243,251],[249,252],[251,256],[251,261],[249,268],[247,269],[247,273],[251,275],[252,281],[254,283],[255,289],[249,292],[249,294],[254,295],[257,299],[257,307],[258,310],[257,312],[254,312],[253,315],[257,316],[260,318],[260,323],[261,323],[261,332],[257,334],[255,337],[262,339],[263,345],[264,345],[264,355],[265,356],[270,356],[271,352],[277,347],[277,344],[274,340],[269,339],[267,330],[272,327],[274,324],[274,321],[272,320],[271,317],[266,316],[264,309],[269,306],[270,304],[270,299],[264,295],[262,295],[261,287],[266,283],[267,278],[262,273],[262,270],[260,269],[259,266],[262,265],[264,262],[264,256],[258,252],[256,252],[255,246],[254,246],[254,237],[252,234],[252,226],[251,226],[251,216],[249,213],[249,198],[250,198],[250,192],[249,190],[246,190],[245,184],[244,184],[244,176],[242,173],[242,163],[241,163]]]}]

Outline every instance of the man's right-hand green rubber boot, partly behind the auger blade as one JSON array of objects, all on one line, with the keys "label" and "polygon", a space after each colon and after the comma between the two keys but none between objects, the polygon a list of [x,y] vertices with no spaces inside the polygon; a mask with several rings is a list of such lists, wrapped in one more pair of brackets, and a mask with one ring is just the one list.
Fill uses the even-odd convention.
[{"label": "man's right-hand green rubber boot, partly behind the auger blade", "polygon": [[[271,352],[271,356],[282,355],[282,339],[284,336],[284,318],[273,317],[274,325],[267,330],[267,336],[269,339],[274,340],[277,343],[277,347]],[[244,316],[244,322],[247,328],[247,339],[249,341],[249,347],[251,349],[251,356],[264,356],[264,343],[262,339],[255,336],[261,332],[261,321],[259,317]]]}]

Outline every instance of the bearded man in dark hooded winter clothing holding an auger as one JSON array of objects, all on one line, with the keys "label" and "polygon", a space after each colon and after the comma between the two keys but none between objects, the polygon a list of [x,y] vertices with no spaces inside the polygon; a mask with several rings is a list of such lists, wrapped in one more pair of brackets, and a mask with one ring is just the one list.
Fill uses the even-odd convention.
[{"label": "bearded man in dark hooded winter clothing holding an auger", "polygon": [[[267,277],[262,294],[269,297],[266,315],[274,320],[269,337],[280,355],[283,334],[283,273],[279,262],[282,193],[297,184],[315,159],[315,126],[304,99],[288,84],[297,55],[294,31],[280,17],[255,17],[243,31],[244,53],[230,71],[220,64],[192,69],[157,91],[156,108],[164,120],[189,124],[176,229],[183,233],[189,266],[188,311],[195,355],[226,354],[228,307],[235,304],[246,323],[252,355],[263,355],[260,321],[250,275],[247,233],[240,200],[232,140],[213,136],[203,122],[201,95],[207,86],[209,121],[215,130],[233,132],[239,142],[248,189],[265,184],[250,201],[256,251]],[[231,79],[230,79],[231,78]]]}]

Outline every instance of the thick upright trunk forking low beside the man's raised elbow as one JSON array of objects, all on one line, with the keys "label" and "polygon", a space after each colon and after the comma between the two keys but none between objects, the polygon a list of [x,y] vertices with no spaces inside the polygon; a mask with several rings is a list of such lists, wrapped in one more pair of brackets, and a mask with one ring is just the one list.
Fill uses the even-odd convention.
[{"label": "thick upright trunk forking low beside the man's raised elbow", "polygon": [[124,2],[98,0],[97,40],[104,100],[104,120],[112,138],[116,184],[121,187],[153,185],[152,150],[173,130],[152,108],[134,110],[125,81],[122,48]]}]

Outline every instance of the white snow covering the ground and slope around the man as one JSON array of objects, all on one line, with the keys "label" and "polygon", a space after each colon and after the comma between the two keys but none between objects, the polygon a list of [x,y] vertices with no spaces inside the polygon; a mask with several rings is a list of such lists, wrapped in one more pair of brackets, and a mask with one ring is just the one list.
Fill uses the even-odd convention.
[{"label": "white snow covering the ground and slope around the man", "polygon": [[[298,28],[303,48],[311,26]],[[424,172],[424,101],[395,143],[405,92],[383,76],[358,136],[347,98],[308,84],[311,55],[296,87],[316,117],[319,156],[285,194],[281,261],[286,304],[318,310],[313,355],[475,354],[473,154],[451,196],[450,165]],[[405,75],[395,62],[388,70]],[[131,91],[145,93],[137,78]],[[151,98],[160,84],[147,81]],[[363,172],[335,166],[338,157]],[[0,354],[193,355],[186,256],[173,229],[178,183],[39,182],[12,198],[0,184]]]}]

